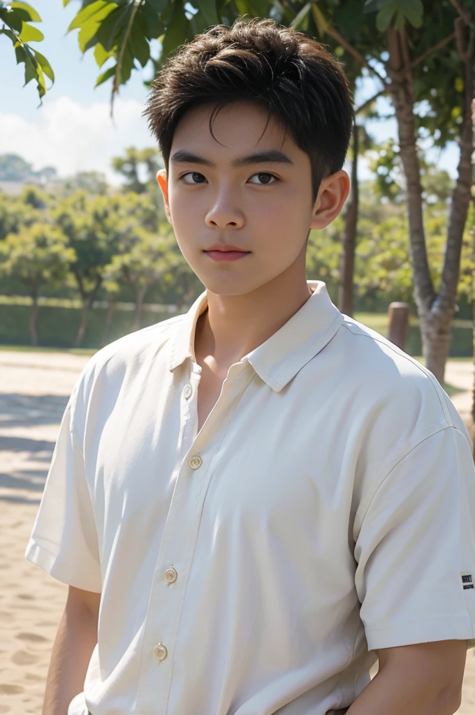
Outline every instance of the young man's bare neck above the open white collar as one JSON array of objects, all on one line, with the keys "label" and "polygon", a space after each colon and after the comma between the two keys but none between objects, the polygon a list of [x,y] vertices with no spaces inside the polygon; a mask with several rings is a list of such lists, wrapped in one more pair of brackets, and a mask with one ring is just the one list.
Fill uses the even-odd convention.
[{"label": "young man's bare neck above the open white collar", "polygon": [[195,332],[195,356],[216,374],[262,345],[307,302],[313,290],[305,271],[283,272],[244,295],[221,295],[207,290],[207,310]]}]

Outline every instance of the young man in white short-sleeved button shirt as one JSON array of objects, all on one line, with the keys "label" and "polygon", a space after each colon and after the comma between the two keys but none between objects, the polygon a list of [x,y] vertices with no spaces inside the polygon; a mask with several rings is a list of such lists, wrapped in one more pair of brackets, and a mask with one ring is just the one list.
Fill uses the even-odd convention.
[{"label": "young man in white short-sleeved button shirt", "polygon": [[428,370],[305,279],[310,229],[348,195],[340,66],[270,20],[214,26],[146,114],[206,290],[99,350],[64,413],[26,550],[69,584],[44,715],[454,713],[469,434]]}]

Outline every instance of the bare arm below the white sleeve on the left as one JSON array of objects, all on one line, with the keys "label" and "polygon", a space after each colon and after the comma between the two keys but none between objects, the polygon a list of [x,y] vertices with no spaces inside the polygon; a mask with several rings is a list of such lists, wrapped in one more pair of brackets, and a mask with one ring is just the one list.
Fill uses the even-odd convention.
[{"label": "bare arm below the white sleeve on the left", "polygon": [[97,644],[101,594],[69,586],[68,598],[52,649],[42,715],[67,715],[69,703],[84,686]]}]

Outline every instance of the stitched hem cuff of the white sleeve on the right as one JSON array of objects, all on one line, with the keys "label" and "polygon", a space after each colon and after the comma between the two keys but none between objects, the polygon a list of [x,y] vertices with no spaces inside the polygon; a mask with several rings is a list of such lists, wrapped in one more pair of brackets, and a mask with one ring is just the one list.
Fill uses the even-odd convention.
[{"label": "stitched hem cuff of the white sleeve on the right", "polygon": [[475,648],[475,629],[469,613],[421,621],[389,623],[382,628],[365,628],[365,633],[368,651],[451,640],[468,641],[467,650]]}]

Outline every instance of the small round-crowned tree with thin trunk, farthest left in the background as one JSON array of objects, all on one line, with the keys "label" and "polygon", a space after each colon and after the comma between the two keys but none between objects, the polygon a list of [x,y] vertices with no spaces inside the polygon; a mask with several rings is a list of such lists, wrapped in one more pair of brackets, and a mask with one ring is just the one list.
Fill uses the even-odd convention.
[{"label": "small round-crowned tree with thin trunk, farthest left in the background", "polygon": [[0,243],[0,272],[24,283],[31,297],[31,345],[38,345],[39,289],[44,284],[64,281],[74,257],[74,250],[67,246],[67,237],[49,223],[24,227]]}]

